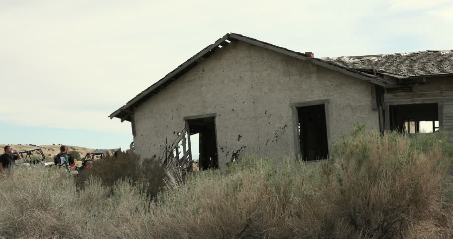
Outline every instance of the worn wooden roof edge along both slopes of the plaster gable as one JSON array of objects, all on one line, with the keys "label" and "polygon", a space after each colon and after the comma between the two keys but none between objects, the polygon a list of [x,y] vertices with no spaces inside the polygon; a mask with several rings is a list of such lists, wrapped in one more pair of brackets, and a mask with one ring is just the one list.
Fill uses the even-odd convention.
[{"label": "worn wooden roof edge along both slopes of the plaster gable", "polygon": [[235,34],[235,33],[227,33],[225,36],[223,36],[222,38],[220,38],[213,44],[207,46],[205,49],[201,50],[200,52],[198,52],[197,54],[195,54],[194,56],[189,58],[186,62],[184,62],[183,64],[178,66],[176,69],[174,69],[170,73],[168,73],[164,78],[160,79],[159,81],[157,81],[156,83],[154,83],[153,85],[148,87],[146,90],[144,90],[141,93],[139,93],[138,95],[136,95],[132,100],[127,102],[124,106],[122,106],[121,108],[119,108],[118,110],[113,112],[109,116],[110,119],[119,118],[119,119],[121,119],[121,122],[124,120],[130,121],[130,117],[128,117],[128,115],[132,114],[132,107],[134,107],[140,100],[142,100],[143,98],[146,98],[150,93],[152,93],[154,90],[156,90],[159,86],[162,86],[162,84],[173,79],[173,77],[175,75],[177,75],[178,73],[180,73],[181,71],[183,71],[184,69],[189,67],[190,65],[196,63],[196,61],[198,59],[200,59],[201,57],[203,57],[205,54],[211,52],[216,47],[219,47],[219,45],[223,44],[225,42],[225,40],[232,40],[232,39],[240,40],[240,41],[252,44],[252,45],[260,46],[260,47],[263,47],[263,48],[266,48],[266,49],[269,49],[272,51],[276,51],[276,52],[279,52],[279,53],[282,53],[282,54],[285,54],[288,56],[292,56],[292,57],[301,59],[301,60],[309,61],[312,64],[326,67],[331,70],[335,70],[335,71],[341,72],[343,74],[364,80],[366,82],[385,87],[385,81],[383,81],[382,79],[380,79],[378,77],[374,77],[369,74],[364,74],[359,71],[348,69],[348,68],[342,67],[340,65],[337,65],[335,63],[329,63],[322,59],[311,58],[310,56],[308,56],[304,53],[292,51],[292,50],[289,50],[289,49],[286,49],[283,47],[272,45],[267,42],[259,41],[254,38],[250,38],[250,37],[243,36],[240,34]]}]

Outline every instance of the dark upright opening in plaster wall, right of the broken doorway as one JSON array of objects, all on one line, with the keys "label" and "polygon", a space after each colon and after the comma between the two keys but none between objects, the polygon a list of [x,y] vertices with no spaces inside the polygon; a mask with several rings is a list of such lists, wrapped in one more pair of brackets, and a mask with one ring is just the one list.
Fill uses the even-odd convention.
[{"label": "dark upright opening in plaster wall, right of the broken doorway", "polygon": [[301,158],[305,161],[327,159],[329,142],[327,137],[325,105],[297,107],[298,133]]}]

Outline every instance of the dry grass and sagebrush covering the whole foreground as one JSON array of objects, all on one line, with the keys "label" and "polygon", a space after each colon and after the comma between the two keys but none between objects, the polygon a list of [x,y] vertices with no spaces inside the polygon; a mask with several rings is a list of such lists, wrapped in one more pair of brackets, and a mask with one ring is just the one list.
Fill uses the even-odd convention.
[{"label": "dry grass and sagebrush covering the whole foreground", "polygon": [[79,190],[67,174],[19,169],[1,179],[0,231],[5,238],[452,238],[449,137],[354,134],[336,142],[335,161],[246,158],[221,170],[172,172],[152,200],[137,183],[145,177],[107,181],[101,170]]}]

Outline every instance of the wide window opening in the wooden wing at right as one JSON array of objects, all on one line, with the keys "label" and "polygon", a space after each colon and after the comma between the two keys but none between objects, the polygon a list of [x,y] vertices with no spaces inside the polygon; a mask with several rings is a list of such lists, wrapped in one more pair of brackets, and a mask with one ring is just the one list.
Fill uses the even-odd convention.
[{"label": "wide window opening in the wooden wing at right", "polygon": [[390,129],[400,133],[435,132],[439,130],[439,106],[437,103],[390,106]]}]

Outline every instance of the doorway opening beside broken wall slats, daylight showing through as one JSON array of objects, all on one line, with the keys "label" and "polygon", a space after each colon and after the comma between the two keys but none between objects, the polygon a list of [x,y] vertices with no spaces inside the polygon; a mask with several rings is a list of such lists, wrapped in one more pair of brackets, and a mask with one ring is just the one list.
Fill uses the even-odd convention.
[{"label": "doorway opening beside broken wall slats, daylight showing through", "polygon": [[[198,162],[200,170],[214,169],[219,167],[218,153],[217,153],[217,136],[216,136],[216,123],[215,117],[187,119],[189,127],[190,138],[193,148],[191,148],[193,159],[197,158],[196,152],[198,151]],[[198,150],[196,150],[197,143],[195,138],[198,136]]]}]

